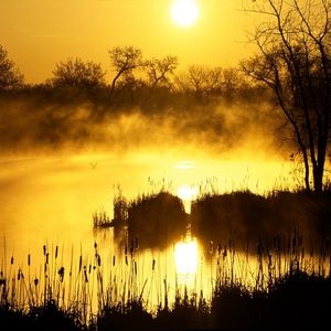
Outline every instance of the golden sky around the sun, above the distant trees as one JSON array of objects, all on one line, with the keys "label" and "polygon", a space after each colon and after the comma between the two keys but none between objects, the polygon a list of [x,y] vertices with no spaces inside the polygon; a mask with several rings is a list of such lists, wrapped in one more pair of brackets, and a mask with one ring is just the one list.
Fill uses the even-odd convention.
[{"label": "golden sky around the sun, above the distant trees", "polygon": [[25,79],[52,76],[70,56],[93,60],[110,71],[113,46],[135,45],[146,58],[173,54],[180,66],[236,65],[252,52],[252,18],[242,0],[196,0],[200,18],[190,28],[170,18],[173,0],[0,0],[0,44]]}]

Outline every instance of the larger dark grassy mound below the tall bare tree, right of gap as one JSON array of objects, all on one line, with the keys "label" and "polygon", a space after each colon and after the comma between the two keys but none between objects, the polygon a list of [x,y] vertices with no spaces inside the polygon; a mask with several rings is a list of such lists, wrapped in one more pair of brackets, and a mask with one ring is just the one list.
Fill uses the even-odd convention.
[{"label": "larger dark grassy mound below the tall bare tree, right of gap", "polygon": [[331,192],[274,191],[265,196],[249,191],[205,194],[193,202],[193,233],[203,242],[228,238],[245,249],[263,239],[271,245],[275,235],[287,236],[300,228],[306,248],[319,249],[331,237]]}]

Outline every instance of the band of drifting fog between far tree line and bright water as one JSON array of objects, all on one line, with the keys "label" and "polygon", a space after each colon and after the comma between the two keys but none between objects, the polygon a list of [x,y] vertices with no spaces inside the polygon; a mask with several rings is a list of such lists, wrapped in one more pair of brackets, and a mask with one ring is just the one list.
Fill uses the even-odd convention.
[{"label": "band of drifting fog between far tree line and bright water", "polygon": [[[225,159],[288,157],[277,131],[281,120],[268,104],[174,105],[158,109],[58,104],[35,98],[0,100],[3,153],[127,153],[139,150],[204,152]],[[286,149],[286,152],[284,151]]]}]

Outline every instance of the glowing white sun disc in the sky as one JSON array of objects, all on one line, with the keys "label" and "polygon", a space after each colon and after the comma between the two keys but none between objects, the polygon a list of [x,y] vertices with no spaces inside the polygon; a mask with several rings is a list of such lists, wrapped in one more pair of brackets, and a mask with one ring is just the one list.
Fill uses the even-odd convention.
[{"label": "glowing white sun disc in the sky", "polygon": [[199,6],[195,0],[174,0],[170,14],[177,25],[188,28],[199,19]]}]

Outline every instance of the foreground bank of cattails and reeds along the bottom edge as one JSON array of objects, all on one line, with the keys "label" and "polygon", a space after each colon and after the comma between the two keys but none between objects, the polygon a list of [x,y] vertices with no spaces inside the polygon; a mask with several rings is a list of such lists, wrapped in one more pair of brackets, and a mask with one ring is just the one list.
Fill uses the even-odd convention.
[{"label": "foreground bank of cattails and reeds along the bottom edge", "polygon": [[[210,300],[196,285],[188,289],[177,281],[172,300],[169,279],[158,279],[159,261],[153,259],[141,273],[137,248],[132,241],[104,260],[95,244],[93,257],[72,253],[68,267],[57,246],[43,247],[40,268],[32,266],[29,254],[25,264],[3,254],[1,330],[297,329],[329,323],[329,241],[319,252],[307,252],[293,231],[286,239],[275,236],[271,246],[259,241],[255,252],[244,255],[232,241],[211,243]],[[159,291],[153,308],[151,291]]]}]

